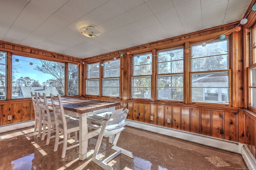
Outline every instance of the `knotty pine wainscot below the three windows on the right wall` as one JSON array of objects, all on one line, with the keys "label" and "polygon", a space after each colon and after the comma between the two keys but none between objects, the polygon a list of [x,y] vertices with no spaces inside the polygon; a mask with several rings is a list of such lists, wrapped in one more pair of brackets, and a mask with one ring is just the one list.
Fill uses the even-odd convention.
[{"label": "knotty pine wainscot below the three windows on the right wall", "polygon": [[[148,104],[129,100],[128,109],[127,118],[130,120],[244,143],[244,114],[238,108]],[[167,118],[170,118],[170,123]]]}]

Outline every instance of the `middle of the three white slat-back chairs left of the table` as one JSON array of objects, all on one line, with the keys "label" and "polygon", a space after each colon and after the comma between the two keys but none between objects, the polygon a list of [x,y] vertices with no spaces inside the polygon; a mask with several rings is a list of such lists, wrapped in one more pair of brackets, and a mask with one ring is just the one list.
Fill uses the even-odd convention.
[{"label": "middle of the three white slat-back chairs left of the table", "polygon": [[49,110],[45,93],[43,93],[42,95],[38,93],[38,99],[39,99],[41,112],[42,112],[42,119],[43,119],[43,133],[42,133],[41,141],[44,141],[44,138],[46,135],[46,127],[47,127],[48,131],[47,131],[46,145],[49,145],[50,139],[55,138],[54,132],[56,132],[54,113],[53,111],[51,112]]}]

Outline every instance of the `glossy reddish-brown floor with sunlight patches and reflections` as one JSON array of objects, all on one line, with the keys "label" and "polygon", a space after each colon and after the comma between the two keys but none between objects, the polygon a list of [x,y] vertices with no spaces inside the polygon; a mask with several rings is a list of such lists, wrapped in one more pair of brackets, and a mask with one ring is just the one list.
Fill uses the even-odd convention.
[{"label": "glossy reddish-brown floor with sunlight patches and reflections", "polygon": [[[96,138],[88,142],[88,152],[93,153]],[[110,146],[103,139],[100,150]],[[54,139],[45,145],[33,128],[21,129],[0,134],[0,169],[3,170],[101,170],[89,156],[78,160],[79,148],[67,150],[66,157],[61,158],[62,145],[53,152]],[[114,170],[227,170],[247,169],[240,154],[158,135],[126,126],[122,131],[118,146],[133,153],[134,159],[120,154],[110,164]],[[98,156],[105,157],[111,149]]]}]

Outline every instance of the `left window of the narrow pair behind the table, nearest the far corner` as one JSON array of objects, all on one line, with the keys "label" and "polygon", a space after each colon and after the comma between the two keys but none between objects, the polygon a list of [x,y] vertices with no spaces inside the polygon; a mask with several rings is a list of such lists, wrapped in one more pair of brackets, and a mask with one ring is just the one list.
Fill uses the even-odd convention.
[{"label": "left window of the narrow pair behind the table, nearest the far corner", "polygon": [[99,63],[87,64],[86,94],[99,95],[100,66]]}]

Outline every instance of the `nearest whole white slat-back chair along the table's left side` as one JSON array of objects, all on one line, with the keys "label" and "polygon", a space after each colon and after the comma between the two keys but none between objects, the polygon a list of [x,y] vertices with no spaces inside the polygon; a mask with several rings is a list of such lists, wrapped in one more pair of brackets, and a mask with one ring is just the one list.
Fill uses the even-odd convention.
[{"label": "nearest whole white slat-back chair along the table's left side", "polygon": [[[67,122],[64,114],[61,96],[59,94],[57,97],[54,97],[52,94],[50,94],[50,96],[52,100],[52,107],[53,107],[55,123],[56,123],[56,138],[55,138],[54,152],[58,150],[58,145],[63,143],[61,158],[64,158],[66,156],[66,150],[79,146],[79,143],[78,143],[79,120],[72,119]],[[75,133],[75,135],[72,137],[69,137],[68,134],[73,132]],[[63,135],[62,141],[60,141],[60,135]],[[67,146],[68,140],[70,139],[74,139],[74,143],[70,146]]]}]

